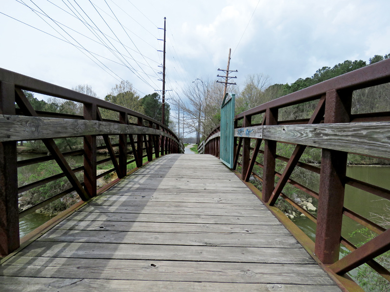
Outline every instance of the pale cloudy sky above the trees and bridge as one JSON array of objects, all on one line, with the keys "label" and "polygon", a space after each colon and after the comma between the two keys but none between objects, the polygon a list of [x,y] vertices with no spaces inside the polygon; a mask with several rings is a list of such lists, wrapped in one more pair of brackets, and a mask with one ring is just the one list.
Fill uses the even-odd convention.
[{"label": "pale cloudy sky above the trees and bridge", "polygon": [[3,0],[0,67],[66,88],[89,84],[101,98],[129,80],[142,97],[161,90],[166,17],[170,94],[217,79],[229,48],[241,87],[255,73],[292,83],[389,54],[389,11],[389,0]]}]

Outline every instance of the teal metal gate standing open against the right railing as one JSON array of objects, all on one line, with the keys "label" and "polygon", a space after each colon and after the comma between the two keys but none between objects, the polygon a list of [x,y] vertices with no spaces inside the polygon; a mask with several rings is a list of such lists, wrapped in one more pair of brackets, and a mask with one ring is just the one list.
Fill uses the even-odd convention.
[{"label": "teal metal gate standing open against the right railing", "polygon": [[234,164],[234,107],[235,94],[226,93],[221,106],[219,159],[229,168]]}]

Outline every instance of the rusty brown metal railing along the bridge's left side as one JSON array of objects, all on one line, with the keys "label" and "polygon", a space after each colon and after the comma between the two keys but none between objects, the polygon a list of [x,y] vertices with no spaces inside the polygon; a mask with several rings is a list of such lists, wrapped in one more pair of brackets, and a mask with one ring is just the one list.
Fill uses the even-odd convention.
[{"label": "rusty brown metal railing along the bridge's left side", "polygon": [[[23,90],[78,102],[83,115],[37,111]],[[117,120],[102,118],[101,111],[115,112]],[[68,90],[18,73],[0,69],[0,256],[20,246],[19,219],[63,196],[77,192],[82,201],[97,195],[97,180],[111,172],[117,177],[127,175],[127,165],[142,165],[160,155],[184,152],[176,135],[158,121],[134,110]],[[57,138],[81,137],[83,149],[61,152]],[[104,146],[97,146],[97,139]],[[113,144],[112,137],[118,142]],[[48,155],[17,162],[17,141],[41,140]],[[118,147],[118,153],[114,148]],[[110,157],[97,161],[97,151],[107,149]],[[83,166],[71,168],[66,157],[83,155]],[[131,155],[131,156],[130,156]],[[62,173],[18,187],[18,167],[55,160]],[[113,168],[97,174],[97,166],[111,162]],[[83,171],[83,179],[76,174]],[[66,177],[71,187],[19,212],[18,195]]]}]

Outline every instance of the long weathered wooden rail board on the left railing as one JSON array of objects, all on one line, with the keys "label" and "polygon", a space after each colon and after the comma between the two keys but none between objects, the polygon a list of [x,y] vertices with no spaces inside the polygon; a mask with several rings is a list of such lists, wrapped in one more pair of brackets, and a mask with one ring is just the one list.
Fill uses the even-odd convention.
[{"label": "long weathered wooden rail board on the left railing", "polygon": [[88,120],[0,115],[0,129],[0,142],[104,134],[149,134],[165,136],[178,143],[162,130]]}]

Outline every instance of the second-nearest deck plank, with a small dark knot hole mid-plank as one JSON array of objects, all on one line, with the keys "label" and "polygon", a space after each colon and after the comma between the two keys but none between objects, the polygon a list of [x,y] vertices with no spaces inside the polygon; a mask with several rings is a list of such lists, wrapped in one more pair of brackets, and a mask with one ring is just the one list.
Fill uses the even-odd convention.
[{"label": "second-nearest deck plank, with a small dark knot hole mid-plank", "polygon": [[89,279],[331,285],[316,264],[13,257],[3,275]]}]

